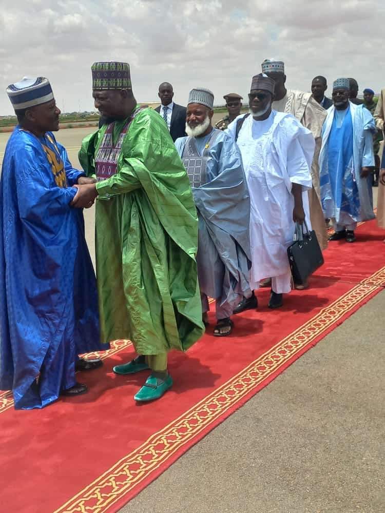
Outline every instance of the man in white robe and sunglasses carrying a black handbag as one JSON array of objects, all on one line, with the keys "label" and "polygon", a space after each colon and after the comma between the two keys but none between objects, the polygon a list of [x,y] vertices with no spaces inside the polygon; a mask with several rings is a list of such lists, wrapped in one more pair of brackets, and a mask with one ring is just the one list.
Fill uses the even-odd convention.
[{"label": "man in white robe and sunglasses carrying a black handbag", "polygon": [[[227,132],[241,151],[251,200],[251,288],[271,276],[268,306],[279,308],[282,294],[291,290],[287,247],[293,241],[295,222],[306,219],[311,228],[307,191],[312,188],[315,141],[291,114],[272,110],[272,78],[254,76],[248,96],[250,113],[238,116]],[[253,297],[244,298],[236,313],[253,307]]]}]

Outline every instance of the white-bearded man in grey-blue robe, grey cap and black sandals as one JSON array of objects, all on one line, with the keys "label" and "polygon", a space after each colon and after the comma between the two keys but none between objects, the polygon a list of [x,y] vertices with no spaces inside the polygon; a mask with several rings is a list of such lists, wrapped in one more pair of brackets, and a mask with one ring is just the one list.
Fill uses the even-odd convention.
[{"label": "white-bearded man in grey-blue robe, grey cap and black sandals", "polygon": [[[213,128],[214,94],[190,91],[186,133],[175,145],[186,168],[198,211],[198,279],[203,321],[208,297],[216,300],[214,335],[234,328],[230,315],[243,297],[251,297],[250,199],[242,161],[233,137]],[[256,298],[254,298],[256,306]]]}]

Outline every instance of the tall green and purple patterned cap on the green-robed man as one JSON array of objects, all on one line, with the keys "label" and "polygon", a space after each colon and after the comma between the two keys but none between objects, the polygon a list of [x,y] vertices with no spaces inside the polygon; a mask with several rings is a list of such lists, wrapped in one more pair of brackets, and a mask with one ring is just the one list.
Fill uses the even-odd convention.
[{"label": "tall green and purple patterned cap on the green-robed man", "polygon": [[130,65],[120,62],[93,63],[92,90],[131,89]]}]

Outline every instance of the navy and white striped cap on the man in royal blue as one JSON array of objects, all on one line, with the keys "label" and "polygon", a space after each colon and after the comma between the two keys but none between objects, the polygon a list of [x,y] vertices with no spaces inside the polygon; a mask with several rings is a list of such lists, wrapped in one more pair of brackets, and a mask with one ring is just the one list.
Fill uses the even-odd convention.
[{"label": "navy and white striped cap on the man in royal blue", "polygon": [[20,82],[9,85],[7,94],[15,110],[28,109],[53,100],[51,84],[44,76],[24,77]]}]

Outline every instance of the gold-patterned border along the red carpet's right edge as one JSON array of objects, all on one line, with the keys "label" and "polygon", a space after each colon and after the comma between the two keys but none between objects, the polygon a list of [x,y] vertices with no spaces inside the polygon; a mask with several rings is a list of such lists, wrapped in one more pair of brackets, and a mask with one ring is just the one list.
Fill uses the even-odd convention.
[{"label": "gold-patterned border along the red carpet's right edge", "polygon": [[164,429],[152,435],[140,447],[122,458],[54,513],[107,511],[181,447],[197,437],[230,408],[236,406],[240,400],[253,392],[305,346],[379,289],[375,282],[383,284],[384,280],[385,267],[357,284],[328,307],[323,308],[311,320],[279,341],[236,376],[211,392]]}]

